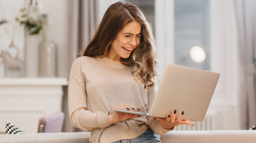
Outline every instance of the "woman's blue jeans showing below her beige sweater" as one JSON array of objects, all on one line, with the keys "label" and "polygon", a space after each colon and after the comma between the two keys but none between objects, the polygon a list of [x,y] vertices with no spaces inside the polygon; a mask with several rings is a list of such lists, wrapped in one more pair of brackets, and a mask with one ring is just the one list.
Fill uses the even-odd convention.
[{"label": "woman's blue jeans showing below her beige sweater", "polygon": [[140,136],[133,139],[122,139],[114,143],[162,143],[159,136],[156,135],[150,127]]}]

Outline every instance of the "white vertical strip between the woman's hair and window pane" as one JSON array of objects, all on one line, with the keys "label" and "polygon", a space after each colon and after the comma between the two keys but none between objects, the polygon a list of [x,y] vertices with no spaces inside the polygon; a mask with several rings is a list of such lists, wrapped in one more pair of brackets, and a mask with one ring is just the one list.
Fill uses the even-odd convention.
[{"label": "white vertical strip between the woman's hair and window pane", "polygon": [[157,69],[163,74],[166,64],[174,64],[175,59],[174,0],[155,0],[154,6]]}]

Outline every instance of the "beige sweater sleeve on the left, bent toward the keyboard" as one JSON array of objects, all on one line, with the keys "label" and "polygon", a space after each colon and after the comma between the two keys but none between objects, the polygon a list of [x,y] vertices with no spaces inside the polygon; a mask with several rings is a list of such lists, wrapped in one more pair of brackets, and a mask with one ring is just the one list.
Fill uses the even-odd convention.
[{"label": "beige sweater sleeve on the left, bent toward the keyboard", "polygon": [[81,60],[76,59],[71,67],[68,85],[68,109],[71,124],[82,130],[106,128],[108,111],[91,112],[87,110],[85,76],[81,70]]}]

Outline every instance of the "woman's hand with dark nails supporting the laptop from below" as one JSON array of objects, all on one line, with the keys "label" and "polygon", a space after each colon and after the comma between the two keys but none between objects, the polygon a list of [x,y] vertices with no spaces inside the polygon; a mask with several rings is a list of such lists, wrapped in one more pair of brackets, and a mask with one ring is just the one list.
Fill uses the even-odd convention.
[{"label": "woman's hand with dark nails supporting the laptop from below", "polygon": [[194,126],[194,123],[190,120],[183,120],[184,111],[180,114],[179,118],[176,119],[176,110],[173,113],[168,114],[166,118],[155,117],[156,120],[160,122],[160,125],[167,130],[172,130],[175,126],[187,124]]}]

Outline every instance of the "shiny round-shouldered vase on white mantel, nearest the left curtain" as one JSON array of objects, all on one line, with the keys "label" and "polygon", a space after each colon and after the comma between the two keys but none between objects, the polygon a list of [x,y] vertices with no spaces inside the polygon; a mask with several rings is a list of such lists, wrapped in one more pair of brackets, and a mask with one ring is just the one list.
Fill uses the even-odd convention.
[{"label": "shiny round-shouldered vase on white mantel, nearest the left curtain", "polygon": [[39,45],[39,76],[55,77],[57,74],[57,45],[46,39]]}]

